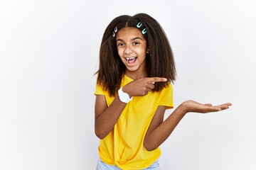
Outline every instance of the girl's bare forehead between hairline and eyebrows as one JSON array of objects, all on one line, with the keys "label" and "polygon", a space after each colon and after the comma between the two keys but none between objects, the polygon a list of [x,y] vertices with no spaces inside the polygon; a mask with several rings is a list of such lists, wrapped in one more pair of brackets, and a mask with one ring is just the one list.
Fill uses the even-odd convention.
[{"label": "girl's bare forehead between hairline and eyebrows", "polygon": [[141,31],[137,28],[127,27],[122,28],[117,32],[117,39],[130,39],[130,38],[142,38],[144,40],[144,36]]}]

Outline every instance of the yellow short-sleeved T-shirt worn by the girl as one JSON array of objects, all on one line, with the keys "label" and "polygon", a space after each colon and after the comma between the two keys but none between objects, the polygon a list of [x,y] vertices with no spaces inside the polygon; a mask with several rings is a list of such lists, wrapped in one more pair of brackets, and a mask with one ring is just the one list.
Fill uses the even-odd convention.
[{"label": "yellow short-sleeved T-shirt worn by the girl", "polygon": [[[133,80],[124,75],[121,86],[131,81]],[[95,95],[105,95],[107,106],[114,100],[100,86],[96,86]],[[100,159],[124,170],[145,169],[153,164],[160,157],[161,150],[157,148],[149,152],[144,148],[143,141],[158,106],[173,108],[171,84],[161,92],[134,96],[127,103],[112,132],[100,140]]]}]

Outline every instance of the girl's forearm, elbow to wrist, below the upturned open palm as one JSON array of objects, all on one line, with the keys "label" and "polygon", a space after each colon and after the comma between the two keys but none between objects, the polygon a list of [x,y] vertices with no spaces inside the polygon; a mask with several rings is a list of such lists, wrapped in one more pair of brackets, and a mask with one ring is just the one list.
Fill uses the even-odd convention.
[{"label": "girl's forearm, elbow to wrist, below the upturned open palm", "polygon": [[180,105],[176,110],[164,120],[161,125],[152,130],[150,134],[144,139],[144,147],[151,151],[159,147],[174,131],[181,119],[186,115],[183,106]]}]

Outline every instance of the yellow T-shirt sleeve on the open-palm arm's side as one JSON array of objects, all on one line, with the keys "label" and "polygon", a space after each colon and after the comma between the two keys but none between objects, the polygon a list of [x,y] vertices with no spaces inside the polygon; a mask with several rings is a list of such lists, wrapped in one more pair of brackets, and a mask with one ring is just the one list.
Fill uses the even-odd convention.
[{"label": "yellow T-shirt sleeve on the open-palm arm's side", "polygon": [[171,84],[169,84],[168,87],[166,87],[162,91],[161,100],[159,102],[159,106],[166,106],[167,109],[174,108],[174,96],[173,96],[173,88]]}]

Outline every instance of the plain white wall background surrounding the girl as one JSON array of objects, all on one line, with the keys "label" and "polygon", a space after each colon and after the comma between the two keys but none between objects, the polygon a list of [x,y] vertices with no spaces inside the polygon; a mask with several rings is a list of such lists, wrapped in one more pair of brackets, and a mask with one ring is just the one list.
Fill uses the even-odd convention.
[{"label": "plain white wall background surrounding the girl", "polygon": [[102,34],[114,17],[140,12],[171,42],[175,108],[233,103],[186,115],[161,145],[161,169],[256,169],[253,0],[1,1],[0,169],[95,169]]}]

